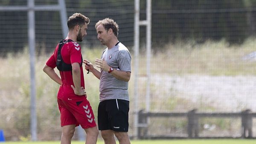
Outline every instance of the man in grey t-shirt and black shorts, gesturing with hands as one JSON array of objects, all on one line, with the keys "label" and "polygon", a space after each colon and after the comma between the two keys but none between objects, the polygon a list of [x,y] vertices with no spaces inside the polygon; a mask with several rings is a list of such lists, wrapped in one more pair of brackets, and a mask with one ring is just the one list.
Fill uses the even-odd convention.
[{"label": "man in grey t-shirt and black shorts, gesturing with hands", "polygon": [[131,55],[118,41],[118,25],[110,18],[99,20],[95,25],[99,41],[107,46],[96,67],[84,60],[85,69],[99,80],[98,126],[105,144],[131,144],[128,136],[129,95],[128,81],[131,77]]}]

